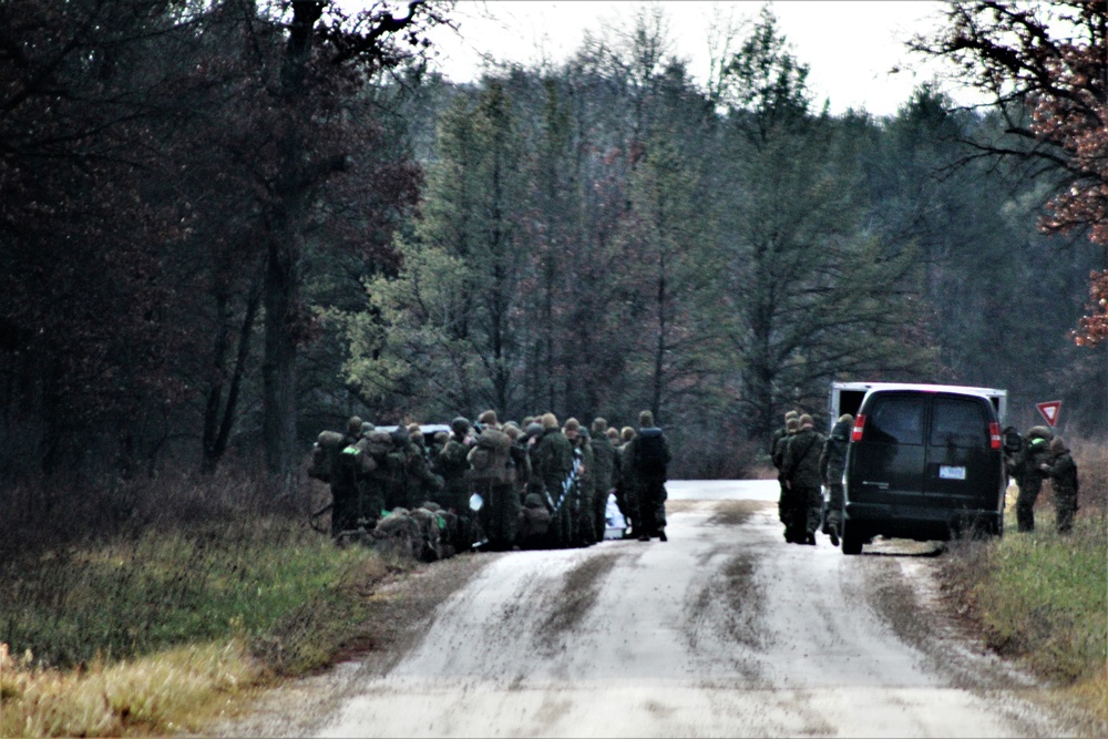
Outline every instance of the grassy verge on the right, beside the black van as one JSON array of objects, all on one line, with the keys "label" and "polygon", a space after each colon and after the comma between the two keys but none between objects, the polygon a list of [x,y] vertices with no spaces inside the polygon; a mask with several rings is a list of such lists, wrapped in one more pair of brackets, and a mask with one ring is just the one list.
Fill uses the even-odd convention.
[{"label": "grassy verge on the right, beside the black van", "polygon": [[1018,533],[1009,510],[1002,538],[953,543],[943,587],[988,648],[1108,722],[1108,448],[1075,445],[1074,458],[1081,507],[1073,533],[1056,533],[1045,485],[1035,532]]}]

